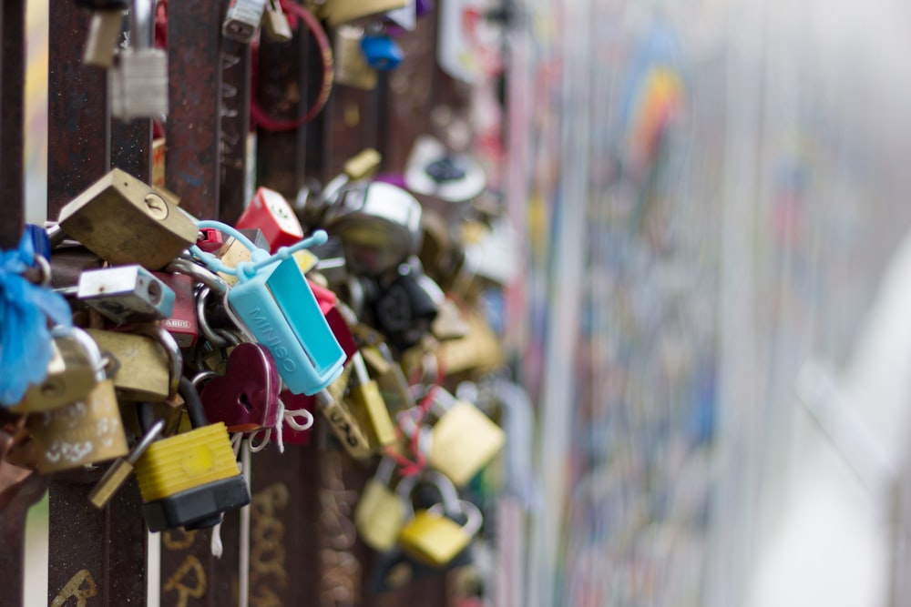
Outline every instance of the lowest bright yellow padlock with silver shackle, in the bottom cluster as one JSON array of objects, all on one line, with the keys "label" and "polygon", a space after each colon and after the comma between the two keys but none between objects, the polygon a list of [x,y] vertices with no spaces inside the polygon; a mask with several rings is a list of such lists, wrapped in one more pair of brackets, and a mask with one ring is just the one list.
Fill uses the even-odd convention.
[{"label": "lowest bright yellow padlock with silver shackle, in the bottom cluster", "polygon": [[[443,501],[415,512],[411,520],[405,522],[398,539],[402,550],[416,561],[444,567],[468,547],[484,519],[474,503],[458,499],[455,487],[445,475],[435,473],[430,478],[440,490]],[[406,500],[405,504],[410,505],[410,501]],[[466,521],[454,520],[460,517],[465,517]]]}]

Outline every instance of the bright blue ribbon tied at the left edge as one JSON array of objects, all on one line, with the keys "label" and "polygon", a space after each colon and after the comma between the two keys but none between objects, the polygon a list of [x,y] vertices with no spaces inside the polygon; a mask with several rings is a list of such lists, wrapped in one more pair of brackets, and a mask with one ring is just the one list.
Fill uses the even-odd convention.
[{"label": "bright blue ribbon tied at the left edge", "polygon": [[29,384],[46,378],[51,359],[47,320],[73,326],[67,300],[23,276],[34,263],[35,247],[27,233],[19,248],[0,251],[0,405],[15,405]]}]

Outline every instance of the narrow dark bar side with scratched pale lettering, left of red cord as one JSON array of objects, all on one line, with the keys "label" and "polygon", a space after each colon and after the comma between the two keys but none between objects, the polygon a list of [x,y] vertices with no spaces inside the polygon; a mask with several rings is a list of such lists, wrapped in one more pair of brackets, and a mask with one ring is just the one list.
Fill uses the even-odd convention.
[{"label": "narrow dark bar side with scratched pale lettering, left of red cord", "polygon": [[247,134],[250,132],[250,45],[221,45],[220,219],[233,224],[247,204]]}]

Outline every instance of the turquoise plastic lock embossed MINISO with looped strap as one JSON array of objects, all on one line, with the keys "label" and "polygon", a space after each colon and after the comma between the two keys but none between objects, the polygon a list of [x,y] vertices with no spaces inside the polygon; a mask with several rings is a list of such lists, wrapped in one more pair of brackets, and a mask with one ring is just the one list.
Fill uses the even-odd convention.
[{"label": "turquoise plastic lock embossed MINISO with looped strap", "polygon": [[315,394],[342,374],[345,355],[322,316],[319,304],[292,253],[319,245],[328,238],[318,230],[292,247],[269,255],[238,230],[219,221],[199,221],[199,228],[216,228],[251,250],[251,262],[230,268],[193,246],[190,252],[217,272],[235,274],[226,304],[257,342],[269,349],[285,387],[294,394]]}]

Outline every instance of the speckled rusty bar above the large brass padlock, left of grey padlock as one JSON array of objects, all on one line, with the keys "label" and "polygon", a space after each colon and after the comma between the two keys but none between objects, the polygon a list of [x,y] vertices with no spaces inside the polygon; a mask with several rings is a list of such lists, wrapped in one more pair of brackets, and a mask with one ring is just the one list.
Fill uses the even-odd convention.
[{"label": "speckled rusty bar above the large brass padlock, left of grey padlock", "polygon": [[110,166],[107,75],[82,65],[89,16],[72,0],[49,11],[47,218]]}]

